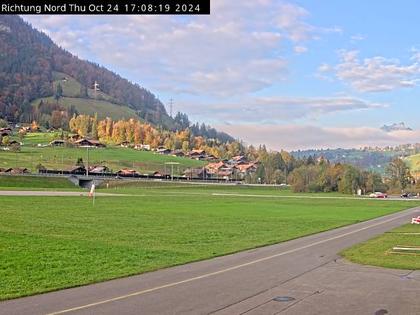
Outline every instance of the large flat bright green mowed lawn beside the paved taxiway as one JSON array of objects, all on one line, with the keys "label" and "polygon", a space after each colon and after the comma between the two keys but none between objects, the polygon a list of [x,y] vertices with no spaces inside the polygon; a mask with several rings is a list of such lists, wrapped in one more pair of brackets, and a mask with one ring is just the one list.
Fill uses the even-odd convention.
[{"label": "large flat bright green mowed lawn beside the paved taxiway", "polygon": [[202,260],[414,206],[156,190],[98,197],[95,206],[87,197],[0,197],[0,299]]}]

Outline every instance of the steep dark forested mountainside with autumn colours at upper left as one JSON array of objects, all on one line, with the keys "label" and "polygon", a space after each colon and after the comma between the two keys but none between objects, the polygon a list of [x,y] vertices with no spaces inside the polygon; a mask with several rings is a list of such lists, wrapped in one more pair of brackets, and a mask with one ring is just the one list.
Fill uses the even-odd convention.
[{"label": "steep dark forested mountainside with autumn colours at upper left", "polygon": [[[120,112],[118,118],[135,115],[153,124],[173,125],[154,94],[97,64],[78,59],[18,16],[0,16],[0,42],[0,117],[30,121],[31,104],[53,97],[60,82],[64,107],[74,105],[81,113],[97,111],[101,116]],[[98,92],[93,90],[95,82]]]}]

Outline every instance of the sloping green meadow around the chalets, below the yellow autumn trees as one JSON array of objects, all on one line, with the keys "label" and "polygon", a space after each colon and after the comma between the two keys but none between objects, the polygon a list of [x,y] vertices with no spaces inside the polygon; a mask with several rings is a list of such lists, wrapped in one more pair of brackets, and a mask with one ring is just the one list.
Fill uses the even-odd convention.
[{"label": "sloping green meadow around the chalets, below the yellow autumn trees", "polygon": [[[36,171],[36,166],[42,164],[49,169],[61,170],[74,166],[78,158],[82,158],[87,163],[85,148],[37,146],[38,143],[46,145],[53,138],[53,133],[29,133],[23,139],[24,145],[20,152],[0,151],[0,167],[26,167]],[[180,163],[174,168],[177,174],[186,168],[202,167],[206,164],[187,158],[113,146],[89,150],[89,165],[106,165],[114,171],[127,167],[134,168],[141,174],[154,171],[164,172],[167,162]]]}]

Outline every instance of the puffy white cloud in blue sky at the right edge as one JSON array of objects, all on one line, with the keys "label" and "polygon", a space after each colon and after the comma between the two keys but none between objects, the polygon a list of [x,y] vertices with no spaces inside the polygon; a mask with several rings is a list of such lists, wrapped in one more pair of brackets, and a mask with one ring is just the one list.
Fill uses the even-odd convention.
[{"label": "puffy white cloud in blue sky at the right edge", "polygon": [[318,69],[322,75],[334,70],[335,76],[349,84],[359,92],[383,92],[401,88],[413,88],[420,79],[420,65],[415,61],[402,65],[398,59],[388,59],[382,56],[359,59],[356,50],[340,51],[340,63],[332,67],[321,65]]}]

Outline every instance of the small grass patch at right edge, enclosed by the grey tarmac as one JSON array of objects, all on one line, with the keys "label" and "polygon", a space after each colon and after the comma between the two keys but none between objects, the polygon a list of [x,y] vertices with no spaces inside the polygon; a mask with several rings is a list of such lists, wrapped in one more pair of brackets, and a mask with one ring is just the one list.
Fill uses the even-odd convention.
[{"label": "small grass patch at right edge, enclosed by the grey tarmac", "polygon": [[353,246],[342,252],[342,255],[352,262],[363,265],[420,270],[420,254],[390,253],[395,246],[420,247],[420,226],[415,224],[404,225]]}]

